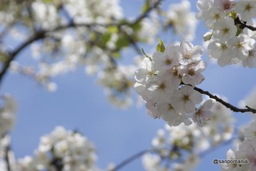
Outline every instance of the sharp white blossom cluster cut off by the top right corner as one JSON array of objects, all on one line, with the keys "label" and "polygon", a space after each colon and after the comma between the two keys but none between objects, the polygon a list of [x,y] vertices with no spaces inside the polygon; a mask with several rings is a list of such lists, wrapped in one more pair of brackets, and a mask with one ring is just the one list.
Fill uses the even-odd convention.
[{"label": "sharp white blossom cluster cut off by the top right corner", "polygon": [[[210,32],[204,35],[209,41],[209,56],[216,58],[218,65],[240,63],[244,67],[256,66],[255,33],[241,26],[242,22],[253,25],[256,17],[254,1],[199,0],[196,17],[204,20]],[[241,23],[240,23],[241,22]]]}]

